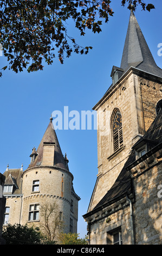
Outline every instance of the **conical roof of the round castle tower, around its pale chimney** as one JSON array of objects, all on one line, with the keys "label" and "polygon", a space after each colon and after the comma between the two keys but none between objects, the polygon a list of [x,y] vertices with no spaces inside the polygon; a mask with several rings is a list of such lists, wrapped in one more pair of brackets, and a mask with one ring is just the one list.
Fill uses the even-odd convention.
[{"label": "conical roof of the round castle tower, around its pale chimney", "polygon": [[43,135],[40,145],[38,146],[36,153],[38,154],[33,162],[29,164],[28,168],[40,166],[43,159],[43,143],[55,143],[55,153],[54,153],[54,166],[64,168],[68,170],[67,164],[64,161],[62,151],[60,148],[59,141],[56,136],[56,132],[52,123],[52,118],[50,118],[49,125],[46,132]]}]

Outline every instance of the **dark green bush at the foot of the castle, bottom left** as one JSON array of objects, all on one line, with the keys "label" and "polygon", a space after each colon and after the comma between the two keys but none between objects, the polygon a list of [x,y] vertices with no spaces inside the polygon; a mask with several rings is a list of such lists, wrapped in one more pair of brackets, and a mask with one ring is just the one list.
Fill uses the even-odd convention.
[{"label": "dark green bush at the foot of the castle, bottom left", "polygon": [[2,237],[7,245],[40,245],[42,235],[38,228],[21,224],[8,224],[2,231]]}]

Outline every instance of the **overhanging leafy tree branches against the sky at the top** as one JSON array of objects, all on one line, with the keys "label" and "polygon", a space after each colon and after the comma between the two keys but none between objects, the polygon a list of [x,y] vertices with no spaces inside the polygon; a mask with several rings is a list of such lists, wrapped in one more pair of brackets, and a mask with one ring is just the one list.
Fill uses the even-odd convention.
[{"label": "overhanging leafy tree branches against the sky at the top", "polygon": [[[115,1],[115,0],[114,0]],[[143,0],[122,0],[134,9],[141,5],[150,11],[152,4]],[[0,43],[9,69],[28,72],[43,70],[43,60],[53,63],[56,51],[61,63],[72,52],[87,54],[91,46],[82,47],[68,34],[67,21],[74,21],[80,34],[86,29],[101,32],[102,20],[113,16],[111,1],[104,0],[2,0],[0,1]],[[7,69],[8,66],[2,68]],[[2,72],[0,73],[2,76]]]}]

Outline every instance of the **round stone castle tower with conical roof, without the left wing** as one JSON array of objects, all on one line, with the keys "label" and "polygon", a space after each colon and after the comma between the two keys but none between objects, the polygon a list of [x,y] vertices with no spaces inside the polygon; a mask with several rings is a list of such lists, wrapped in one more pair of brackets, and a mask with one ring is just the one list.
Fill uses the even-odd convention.
[{"label": "round stone castle tower with conical roof, without the left wing", "polygon": [[[34,148],[29,167],[23,172],[21,224],[42,226],[43,209],[55,205],[55,216],[64,233],[77,233],[77,204],[80,198],[73,188],[73,175],[69,172],[67,155],[63,157],[52,118],[42,141]],[[51,220],[50,220],[51,221]]]}]

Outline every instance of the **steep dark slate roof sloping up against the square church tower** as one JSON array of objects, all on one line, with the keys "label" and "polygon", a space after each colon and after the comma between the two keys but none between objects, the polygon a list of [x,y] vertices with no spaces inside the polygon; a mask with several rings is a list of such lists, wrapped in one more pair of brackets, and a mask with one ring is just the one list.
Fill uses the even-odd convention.
[{"label": "steep dark slate roof sloping up against the square church tower", "polygon": [[[155,117],[153,123],[151,124],[145,135],[141,137],[139,141],[134,144],[134,146],[137,146],[139,142],[145,140],[148,140],[150,142],[150,145],[152,145],[151,148],[154,148],[156,147],[156,145],[160,145],[162,143],[162,108],[160,108],[157,117]],[[133,193],[131,174],[127,170],[127,167],[135,162],[134,146],[132,147],[132,153],[129,155],[128,160],[122,168],[118,178],[115,180],[113,186],[110,190],[107,191],[105,196],[100,200],[100,202],[95,206],[92,211],[98,210],[100,206],[104,207],[104,205],[111,204],[119,200],[123,196],[126,196],[126,194]],[[90,212],[87,212],[87,215],[89,214]],[[86,215],[84,216],[86,217]]]}]

